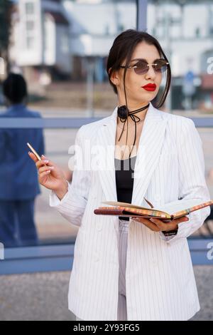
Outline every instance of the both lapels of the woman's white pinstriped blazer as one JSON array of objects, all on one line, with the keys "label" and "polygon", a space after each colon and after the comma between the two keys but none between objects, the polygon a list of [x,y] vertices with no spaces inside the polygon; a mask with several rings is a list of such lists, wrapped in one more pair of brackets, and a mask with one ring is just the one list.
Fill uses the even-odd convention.
[{"label": "both lapels of the woman's white pinstriped blazer", "polygon": [[[167,123],[163,118],[163,113],[154,108],[150,103],[143,123],[134,170],[131,202],[135,205],[142,205],[151,176],[158,165]],[[97,145],[99,145],[99,179],[106,200],[109,201],[117,201],[114,167],[116,118],[117,107],[114,109],[112,115],[107,120],[104,120],[97,133]]]}]

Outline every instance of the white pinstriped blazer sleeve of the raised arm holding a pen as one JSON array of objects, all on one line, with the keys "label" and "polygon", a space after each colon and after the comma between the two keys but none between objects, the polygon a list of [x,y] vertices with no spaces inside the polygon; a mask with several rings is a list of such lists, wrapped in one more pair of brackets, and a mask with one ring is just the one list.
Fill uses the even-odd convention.
[{"label": "white pinstriped blazer sleeve of the raised arm holding a pen", "polygon": [[[72,172],[72,182],[67,181],[68,191],[60,200],[55,192],[50,192],[50,207],[55,207],[58,212],[65,217],[72,225],[81,225],[82,216],[87,205],[90,186],[90,174],[84,170],[80,160],[84,157],[82,143],[82,127],[78,130],[75,138],[75,166]],[[77,148],[77,150],[76,150]],[[82,168],[81,168],[82,167]]]}]

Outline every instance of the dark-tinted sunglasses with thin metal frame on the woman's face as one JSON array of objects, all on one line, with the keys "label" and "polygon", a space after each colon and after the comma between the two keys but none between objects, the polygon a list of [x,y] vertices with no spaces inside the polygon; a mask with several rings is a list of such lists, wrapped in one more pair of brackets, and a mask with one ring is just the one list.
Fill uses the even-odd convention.
[{"label": "dark-tinted sunglasses with thin metal frame on the woman's face", "polygon": [[[168,65],[168,61],[165,61],[163,58],[156,59],[153,64],[148,64],[147,61],[141,59],[135,65],[127,66],[127,68],[133,68],[137,74],[145,74],[148,72],[149,67],[152,66],[155,72],[163,73],[168,68]],[[126,68],[126,66],[121,65],[120,68]]]}]

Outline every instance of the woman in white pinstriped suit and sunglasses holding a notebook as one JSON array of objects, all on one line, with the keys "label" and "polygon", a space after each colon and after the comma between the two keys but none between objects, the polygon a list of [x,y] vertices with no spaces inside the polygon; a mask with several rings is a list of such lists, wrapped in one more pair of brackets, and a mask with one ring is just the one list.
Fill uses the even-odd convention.
[{"label": "woman in white pinstriped suit and sunglasses holding a notebook", "polygon": [[104,200],[148,206],[147,200],[155,207],[209,200],[202,142],[192,120],[151,103],[163,73],[158,108],[170,86],[168,59],[153,36],[134,30],[117,36],[107,71],[118,106],[78,131],[72,184],[55,163],[29,154],[40,184],[52,190],[50,206],[80,227],[69,309],[77,320],[187,320],[200,309],[187,237],[209,207],[166,224],[94,215],[94,209]]}]

